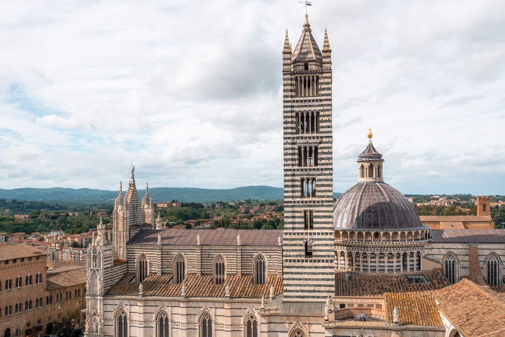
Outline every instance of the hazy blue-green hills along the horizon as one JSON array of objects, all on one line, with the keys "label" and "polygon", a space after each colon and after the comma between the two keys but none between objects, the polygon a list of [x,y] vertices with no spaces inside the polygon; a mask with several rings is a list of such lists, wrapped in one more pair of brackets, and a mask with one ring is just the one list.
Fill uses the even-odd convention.
[{"label": "hazy blue-green hills along the horizon", "polygon": [[[1,199],[42,201],[62,205],[84,205],[113,203],[119,191],[91,188],[14,188],[1,189]],[[138,190],[140,197],[144,189]],[[207,189],[191,187],[154,187],[149,188],[149,195],[155,203],[178,200],[183,202],[210,203],[216,201],[234,201],[241,199],[281,200],[283,189],[271,186],[245,186],[230,189]],[[334,193],[335,198],[341,193]]]}]

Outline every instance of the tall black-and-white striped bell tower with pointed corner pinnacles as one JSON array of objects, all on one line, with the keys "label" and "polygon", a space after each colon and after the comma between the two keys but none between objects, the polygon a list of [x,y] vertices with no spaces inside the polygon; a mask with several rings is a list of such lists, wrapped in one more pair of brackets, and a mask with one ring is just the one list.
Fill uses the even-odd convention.
[{"label": "tall black-and-white striped bell tower with pointed corner pinnacles", "polygon": [[283,55],[284,301],[323,301],[335,293],[331,49],[308,16],[294,51]]}]

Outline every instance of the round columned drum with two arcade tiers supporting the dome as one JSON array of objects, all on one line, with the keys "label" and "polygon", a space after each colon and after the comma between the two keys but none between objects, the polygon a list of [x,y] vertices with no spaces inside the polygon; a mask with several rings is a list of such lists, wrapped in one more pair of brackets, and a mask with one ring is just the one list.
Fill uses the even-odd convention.
[{"label": "round columned drum with two arcade tiers supporting the dome", "polygon": [[365,273],[416,272],[422,268],[429,229],[335,231],[335,270]]}]

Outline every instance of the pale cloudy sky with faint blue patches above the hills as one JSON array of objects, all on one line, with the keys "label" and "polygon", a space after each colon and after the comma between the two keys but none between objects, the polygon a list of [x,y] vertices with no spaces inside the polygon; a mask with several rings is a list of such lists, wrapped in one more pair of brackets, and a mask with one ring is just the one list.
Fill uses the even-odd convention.
[{"label": "pale cloudy sky with faint blue patches above the hills", "polygon": [[[501,0],[314,0],[334,191],[369,126],[406,194],[505,195]],[[0,188],[281,187],[282,1],[0,1]]]}]

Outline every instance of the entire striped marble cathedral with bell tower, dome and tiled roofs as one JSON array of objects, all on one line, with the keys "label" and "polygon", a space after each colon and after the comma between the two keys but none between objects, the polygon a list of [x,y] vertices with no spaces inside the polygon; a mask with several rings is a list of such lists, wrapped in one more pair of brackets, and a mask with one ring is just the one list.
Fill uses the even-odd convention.
[{"label": "entire striped marble cathedral with bell tower, dome and tiled roofs", "polygon": [[307,15],[282,78],[284,230],[166,229],[132,167],[88,247],[85,336],[505,335],[505,230],[423,225],[371,131],[335,203],[331,47]]}]

